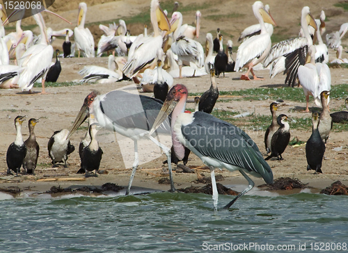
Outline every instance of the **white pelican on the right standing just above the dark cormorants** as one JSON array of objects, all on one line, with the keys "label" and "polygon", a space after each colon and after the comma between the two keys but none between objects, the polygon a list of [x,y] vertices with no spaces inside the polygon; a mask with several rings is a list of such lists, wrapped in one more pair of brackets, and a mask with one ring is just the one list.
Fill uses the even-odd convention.
[{"label": "white pelican on the right standing just above the dark cormorants", "polygon": [[[306,65],[300,65],[298,76],[306,96],[306,113],[309,113],[309,96],[314,97],[315,104],[321,106],[320,93],[331,90],[331,74],[326,63],[315,63],[315,47],[311,45],[306,56]],[[328,99],[329,104],[329,99]]]}]

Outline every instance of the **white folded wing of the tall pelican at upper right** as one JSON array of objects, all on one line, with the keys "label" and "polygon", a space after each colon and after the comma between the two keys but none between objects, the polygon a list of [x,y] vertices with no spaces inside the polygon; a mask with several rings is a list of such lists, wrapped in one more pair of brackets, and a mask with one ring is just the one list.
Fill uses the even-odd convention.
[{"label": "white folded wing of the tall pelican at upper right", "polygon": [[269,34],[255,35],[245,40],[238,47],[237,59],[235,64],[236,71],[239,71],[244,65],[250,63],[253,59],[262,56],[264,51],[269,47],[271,38]]}]

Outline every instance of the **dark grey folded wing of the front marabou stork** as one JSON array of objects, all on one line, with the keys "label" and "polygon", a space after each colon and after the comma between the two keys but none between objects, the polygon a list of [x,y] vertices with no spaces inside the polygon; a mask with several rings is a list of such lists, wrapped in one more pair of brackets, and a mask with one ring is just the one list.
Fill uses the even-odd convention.
[{"label": "dark grey folded wing of the front marabou stork", "polygon": [[193,114],[193,122],[182,125],[181,131],[199,154],[248,172],[258,172],[267,183],[272,183],[271,168],[264,161],[258,146],[237,126],[198,111]]}]

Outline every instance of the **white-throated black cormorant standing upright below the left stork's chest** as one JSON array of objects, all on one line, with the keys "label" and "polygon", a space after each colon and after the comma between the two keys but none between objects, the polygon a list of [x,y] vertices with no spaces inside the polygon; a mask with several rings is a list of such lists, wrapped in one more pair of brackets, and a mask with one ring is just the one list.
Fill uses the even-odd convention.
[{"label": "white-throated black cormorant standing upright below the left stork's chest", "polygon": [[97,175],[97,171],[99,170],[100,161],[102,160],[103,151],[98,145],[98,141],[95,138],[97,134],[96,126],[99,126],[97,123],[90,124],[88,133],[90,136],[90,143],[87,147],[82,151],[82,159],[81,159],[81,169],[86,172],[95,170],[95,175]]}]

